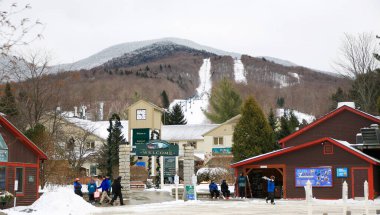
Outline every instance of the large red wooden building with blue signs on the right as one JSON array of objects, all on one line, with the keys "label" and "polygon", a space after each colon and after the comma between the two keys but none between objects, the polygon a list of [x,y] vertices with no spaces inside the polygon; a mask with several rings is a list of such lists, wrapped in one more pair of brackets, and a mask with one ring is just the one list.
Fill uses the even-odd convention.
[{"label": "large red wooden building with blue signs on the right", "polygon": [[380,192],[380,161],[355,148],[356,134],[363,127],[380,124],[380,119],[343,106],[279,141],[282,149],[231,165],[235,175],[248,176],[247,193],[266,196],[263,176],[276,177],[276,197],[305,198],[304,185],[313,184],[319,199],[342,198],[342,183],[348,197],[364,197],[364,181],[369,198]]}]

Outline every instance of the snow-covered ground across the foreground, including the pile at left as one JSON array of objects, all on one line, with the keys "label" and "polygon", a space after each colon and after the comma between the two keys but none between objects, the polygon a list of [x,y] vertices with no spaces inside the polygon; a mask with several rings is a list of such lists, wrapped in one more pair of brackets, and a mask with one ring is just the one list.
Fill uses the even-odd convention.
[{"label": "snow-covered ground across the foreground, including the pile at left", "polygon": [[[170,188],[170,187],[168,187]],[[168,188],[164,188],[165,191]],[[208,185],[202,184],[197,190],[207,192]],[[231,189],[231,187],[230,187]],[[153,190],[152,190],[153,191]],[[143,205],[125,205],[113,207],[95,207],[74,194],[70,187],[57,187],[47,190],[31,206],[18,206],[3,210],[10,215],[76,215],[76,214],[376,214],[380,209],[380,199],[374,201],[347,200],[318,200],[310,204],[304,200],[276,200],[276,205],[265,203],[264,199],[230,199],[218,201],[169,201]]]}]

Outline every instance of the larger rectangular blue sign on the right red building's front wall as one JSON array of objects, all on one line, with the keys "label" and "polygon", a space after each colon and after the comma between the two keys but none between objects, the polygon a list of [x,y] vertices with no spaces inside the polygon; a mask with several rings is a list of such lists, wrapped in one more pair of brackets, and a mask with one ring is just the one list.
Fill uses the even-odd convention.
[{"label": "larger rectangular blue sign on the right red building's front wall", "polygon": [[331,167],[296,168],[296,187],[306,186],[309,180],[313,187],[332,187]]}]

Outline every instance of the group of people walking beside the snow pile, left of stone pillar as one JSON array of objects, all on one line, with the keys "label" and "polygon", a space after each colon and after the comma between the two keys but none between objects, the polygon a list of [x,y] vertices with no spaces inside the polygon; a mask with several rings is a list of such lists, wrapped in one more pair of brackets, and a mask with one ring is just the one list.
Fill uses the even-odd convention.
[{"label": "group of people walking beside the snow pile, left of stone pillar", "polygon": [[[119,197],[120,205],[124,205],[123,195],[121,193],[121,189],[123,188],[123,186],[121,186],[121,176],[117,177],[113,183],[111,183],[109,176],[105,176],[102,179],[102,183],[99,187],[96,185],[93,178],[91,178],[90,182],[87,184],[89,202],[94,204],[95,199],[100,198],[99,204],[102,204],[104,200],[107,199],[108,203],[113,205],[114,201]],[[98,189],[101,189],[101,195],[95,196],[98,192],[100,192]],[[113,196],[112,198],[111,190]],[[82,184],[80,183],[79,178],[76,178],[74,181],[74,193],[83,197]]]}]

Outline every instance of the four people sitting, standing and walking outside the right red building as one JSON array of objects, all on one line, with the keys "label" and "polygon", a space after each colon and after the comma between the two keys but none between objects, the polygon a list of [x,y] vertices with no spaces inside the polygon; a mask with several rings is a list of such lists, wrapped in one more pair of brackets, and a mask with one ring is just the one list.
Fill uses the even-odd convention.
[{"label": "four people sitting, standing and walking outside the right red building", "polygon": [[[271,204],[274,205],[274,191],[275,191],[275,177],[272,175],[270,178],[264,176],[262,177],[264,180],[267,180],[267,192],[268,196],[266,197],[265,201],[268,203],[268,200],[270,200]],[[246,184],[247,184],[247,177],[243,175],[243,173],[240,174],[240,176],[237,178],[237,187],[239,192],[239,198],[246,198]],[[220,184],[220,188],[222,191],[222,197],[225,199],[229,199],[230,197],[230,190],[228,189],[228,184],[226,180],[223,180]],[[218,185],[215,183],[215,181],[211,181],[209,184],[209,191],[211,198],[218,198],[220,195],[220,192],[218,190]]]}]

